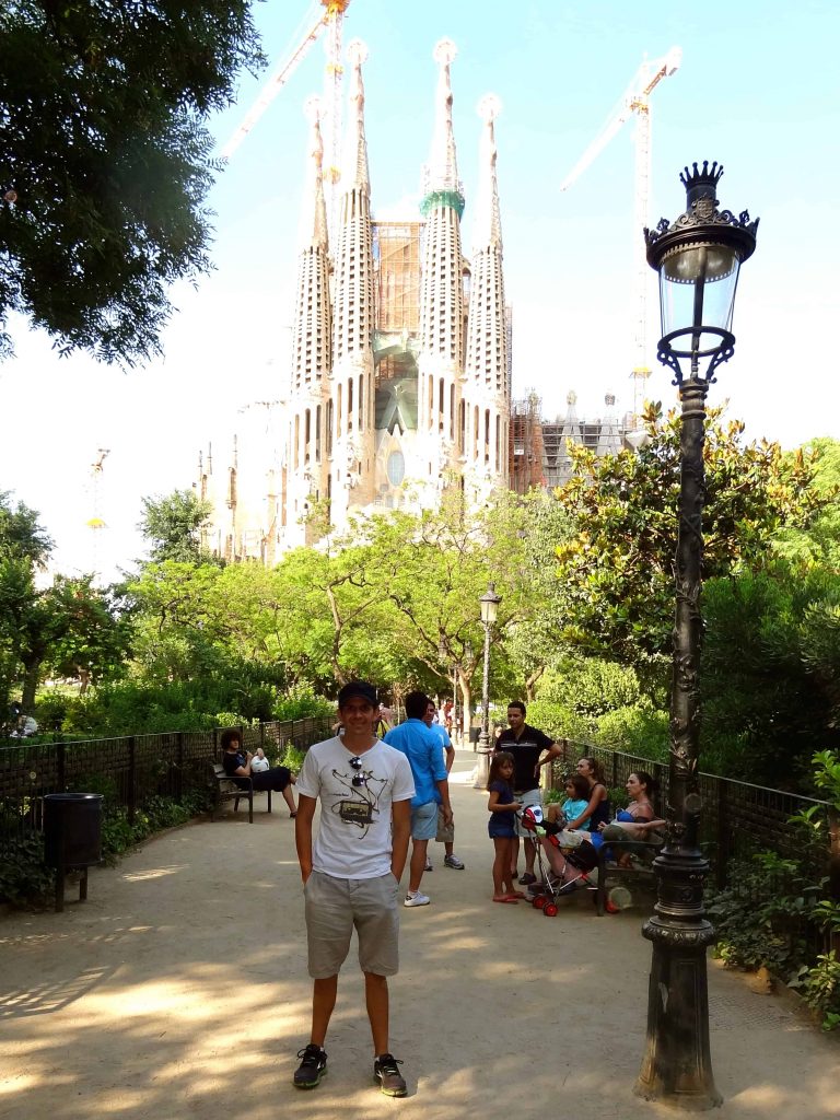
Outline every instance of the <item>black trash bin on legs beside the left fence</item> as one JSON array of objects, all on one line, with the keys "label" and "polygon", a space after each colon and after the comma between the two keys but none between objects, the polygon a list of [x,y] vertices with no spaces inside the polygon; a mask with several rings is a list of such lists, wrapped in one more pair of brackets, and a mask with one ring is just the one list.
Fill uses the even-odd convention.
[{"label": "black trash bin on legs beside the left fence", "polygon": [[64,877],[82,868],[78,897],[87,897],[87,868],[102,859],[102,794],[48,793],[44,797],[44,859],[55,868],[55,908],[64,909]]}]

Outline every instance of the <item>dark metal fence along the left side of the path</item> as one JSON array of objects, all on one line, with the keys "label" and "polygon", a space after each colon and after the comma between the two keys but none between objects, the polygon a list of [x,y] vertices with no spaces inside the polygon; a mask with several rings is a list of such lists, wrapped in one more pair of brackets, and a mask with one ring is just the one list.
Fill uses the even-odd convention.
[{"label": "dark metal fence along the left side of the path", "polygon": [[[240,728],[249,750],[269,757],[287,745],[306,748],[330,732],[332,718],[309,718]],[[130,735],[77,743],[0,747],[0,842],[43,827],[48,793],[104,793],[133,822],[153,796],[180,800],[207,786],[208,765],[221,762],[220,736],[212,731]]]}]

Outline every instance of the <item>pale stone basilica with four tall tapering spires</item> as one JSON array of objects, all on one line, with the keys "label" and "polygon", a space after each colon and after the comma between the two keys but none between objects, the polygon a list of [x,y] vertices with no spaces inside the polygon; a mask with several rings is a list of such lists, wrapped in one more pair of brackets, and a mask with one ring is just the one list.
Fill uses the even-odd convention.
[{"label": "pale stone basilica with four tall tapering spires", "polygon": [[511,317],[496,185],[495,97],[483,99],[472,260],[465,259],[452,133],[454,45],[439,68],[420,214],[376,221],[362,66],[351,44],[349,119],[333,243],[324,144],[311,112],[287,399],[240,413],[233,448],[199,458],[213,503],[207,548],[273,563],[310,543],[316,507],[340,530],[354,512],[430,508],[447,486],[468,503],[508,485]]}]

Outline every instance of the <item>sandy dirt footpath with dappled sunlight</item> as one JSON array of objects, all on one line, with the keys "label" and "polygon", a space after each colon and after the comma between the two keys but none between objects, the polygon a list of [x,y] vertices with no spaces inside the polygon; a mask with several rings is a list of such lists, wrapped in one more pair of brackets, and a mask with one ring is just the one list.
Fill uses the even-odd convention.
[{"label": "sandy dirt footpath with dappled sunlight", "polygon": [[[454,775],[456,851],[403,909],[392,1048],[409,1096],[372,1079],[355,948],[327,1040],[329,1076],[291,1085],[309,980],[293,822],[282,800],[167,833],[91,872],[87,903],[0,917],[0,1117],[10,1120],[575,1118],[674,1112],[632,1095],[645,1033],[644,914],[585,898],[545,918],[493,905],[486,794]],[[711,1051],[726,1120],[840,1116],[840,1047],[787,1000],[709,968]]]}]

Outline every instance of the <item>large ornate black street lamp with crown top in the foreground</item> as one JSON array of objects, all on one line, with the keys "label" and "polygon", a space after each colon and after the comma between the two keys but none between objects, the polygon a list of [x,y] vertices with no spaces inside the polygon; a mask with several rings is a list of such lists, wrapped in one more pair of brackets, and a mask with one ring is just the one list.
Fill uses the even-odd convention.
[{"label": "large ornate black street lamp with crown top in the foreground", "polygon": [[[659,272],[663,337],[659,360],[674,372],[682,405],[676,608],[673,632],[668,839],[654,862],[657,902],[645,923],[653,943],[647,1044],[635,1092],[648,1100],[702,1111],[721,1103],[709,1054],[706,952],[713,930],[703,911],[709,865],[699,843],[702,617],[702,508],[706,394],[721,362],[732,356],[735,289],[740,264],[755,250],[758,220],[718,209],[724,168],[685,168],[687,207],[672,224],[645,230],[647,262]],[[683,371],[680,360],[688,370]]]}]

